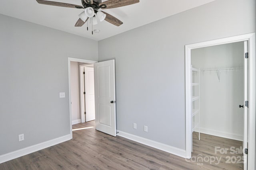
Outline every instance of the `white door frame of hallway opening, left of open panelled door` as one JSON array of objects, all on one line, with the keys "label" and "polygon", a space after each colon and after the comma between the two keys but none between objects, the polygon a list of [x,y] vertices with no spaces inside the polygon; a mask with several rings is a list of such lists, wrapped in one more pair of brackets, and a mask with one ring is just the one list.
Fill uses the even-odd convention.
[{"label": "white door frame of hallway opening, left of open panelled door", "polygon": [[[71,77],[71,74],[70,74],[70,63],[71,63],[71,61],[80,62],[80,63],[90,63],[90,64],[98,63],[98,61],[68,57],[69,119],[70,119],[70,135],[71,135],[71,138],[73,138],[73,136],[72,136],[72,109],[71,109],[71,95],[72,94],[71,94],[71,86],[70,86],[70,77]],[[81,117],[81,119],[82,119],[82,117]]]}]

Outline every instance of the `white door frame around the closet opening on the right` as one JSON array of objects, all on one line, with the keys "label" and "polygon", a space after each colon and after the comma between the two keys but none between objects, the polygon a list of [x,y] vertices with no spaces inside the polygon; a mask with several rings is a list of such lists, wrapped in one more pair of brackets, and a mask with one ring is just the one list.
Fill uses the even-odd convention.
[{"label": "white door frame around the closet opening on the right", "polygon": [[227,43],[235,43],[240,41],[248,41],[249,50],[249,113],[248,113],[248,169],[255,169],[255,124],[256,124],[256,42],[255,33],[248,33],[233,37],[216,39],[212,41],[205,41],[201,43],[194,43],[185,45],[185,101],[186,101],[186,158],[191,158],[192,151],[192,134],[191,134],[191,50],[209,47],[214,45],[221,45]]}]

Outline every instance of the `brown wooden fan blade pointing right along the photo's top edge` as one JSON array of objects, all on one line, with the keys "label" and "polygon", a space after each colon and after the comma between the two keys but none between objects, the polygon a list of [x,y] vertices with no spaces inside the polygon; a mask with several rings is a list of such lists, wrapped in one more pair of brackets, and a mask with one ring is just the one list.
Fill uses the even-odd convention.
[{"label": "brown wooden fan blade pointing right along the photo's top edge", "polygon": [[136,4],[140,2],[140,0],[107,0],[99,4],[100,8],[102,9],[109,9],[109,8],[117,8],[120,6],[126,6],[131,4]]}]

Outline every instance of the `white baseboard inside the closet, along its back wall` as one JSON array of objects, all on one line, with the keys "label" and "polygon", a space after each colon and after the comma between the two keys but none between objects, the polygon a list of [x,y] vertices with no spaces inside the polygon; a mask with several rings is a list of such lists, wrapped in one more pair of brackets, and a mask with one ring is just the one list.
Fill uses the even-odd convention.
[{"label": "white baseboard inside the closet, along its back wall", "polygon": [[[198,132],[198,129],[196,129],[195,131]],[[235,134],[235,133],[216,131],[214,129],[208,129],[208,128],[203,128],[203,127],[200,127],[200,132],[208,134],[208,135],[224,137],[224,138],[227,138],[227,139],[234,139],[234,140],[237,140],[237,141],[243,141],[243,135],[239,135],[239,134]]]}]

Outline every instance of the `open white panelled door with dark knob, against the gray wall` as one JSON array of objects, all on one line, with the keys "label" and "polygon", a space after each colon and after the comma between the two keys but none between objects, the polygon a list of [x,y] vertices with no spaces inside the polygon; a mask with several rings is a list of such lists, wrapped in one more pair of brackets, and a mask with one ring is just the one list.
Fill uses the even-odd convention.
[{"label": "open white panelled door with dark knob, against the gray wall", "polygon": [[94,64],[96,130],[116,136],[115,62]]}]

